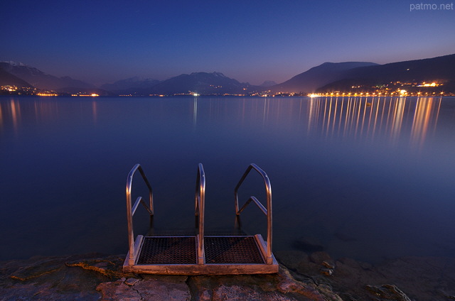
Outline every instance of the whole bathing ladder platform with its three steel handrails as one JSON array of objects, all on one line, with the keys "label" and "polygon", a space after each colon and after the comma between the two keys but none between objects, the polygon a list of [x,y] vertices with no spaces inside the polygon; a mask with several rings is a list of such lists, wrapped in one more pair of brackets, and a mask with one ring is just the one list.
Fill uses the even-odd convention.
[{"label": "whole bathing ladder platform with its three steel handrails", "polygon": [[[138,197],[132,204],[132,181],[139,173],[149,189],[149,202]],[[256,170],[264,180],[267,208],[256,197],[250,197],[239,209],[238,190],[251,170]],[[267,241],[260,234],[254,236],[205,236],[205,173],[198,164],[196,174],[195,215],[197,234],[189,236],[142,236],[134,241],[133,216],[142,204],[151,219],[154,216],[154,200],[149,180],[141,168],[134,165],[127,177],[127,224],[129,252],[124,261],[124,272],[160,275],[226,275],[277,273],[278,263],[272,253],[272,187],[269,177],[256,164],[250,164],[235,187],[235,214],[251,202],[267,216]]]}]

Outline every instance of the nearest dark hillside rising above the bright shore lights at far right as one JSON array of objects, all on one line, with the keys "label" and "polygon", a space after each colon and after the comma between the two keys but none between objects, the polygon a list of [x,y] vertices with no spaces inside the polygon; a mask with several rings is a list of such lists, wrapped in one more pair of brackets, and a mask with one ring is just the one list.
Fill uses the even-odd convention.
[{"label": "nearest dark hillside rising above the bright shore lights at far right", "polygon": [[455,82],[455,54],[423,60],[358,67],[348,70],[343,79],[326,84],[318,89],[318,92],[347,92],[353,86],[373,87],[398,81],[441,81],[446,83],[444,86],[452,87]]}]

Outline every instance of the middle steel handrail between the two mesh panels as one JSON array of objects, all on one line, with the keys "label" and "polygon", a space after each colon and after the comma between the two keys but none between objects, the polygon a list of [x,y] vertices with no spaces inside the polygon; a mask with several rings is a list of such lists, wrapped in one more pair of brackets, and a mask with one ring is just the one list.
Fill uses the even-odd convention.
[{"label": "middle steel handrail between the two mesh panels", "polygon": [[194,206],[198,217],[198,264],[204,264],[205,173],[202,163],[198,164]]}]

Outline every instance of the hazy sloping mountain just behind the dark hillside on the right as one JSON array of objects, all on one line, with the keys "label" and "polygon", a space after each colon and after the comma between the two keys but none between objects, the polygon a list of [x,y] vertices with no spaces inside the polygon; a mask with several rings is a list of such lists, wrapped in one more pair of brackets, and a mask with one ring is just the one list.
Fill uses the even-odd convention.
[{"label": "hazy sloping mountain just behind the dark hillside on the right", "polygon": [[374,62],[324,62],[322,65],[312,67],[282,84],[270,87],[270,90],[272,92],[311,93],[326,84],[343,79],[350,69],[372,65],[378,64]]}]

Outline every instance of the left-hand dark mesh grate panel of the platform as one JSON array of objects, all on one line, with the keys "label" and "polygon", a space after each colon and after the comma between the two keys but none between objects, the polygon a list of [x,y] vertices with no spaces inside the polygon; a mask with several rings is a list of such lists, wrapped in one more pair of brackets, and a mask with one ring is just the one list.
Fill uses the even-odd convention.
[{"label": "left-hand dark mesh grate panel of the platform", "polygon": [[144,237],[137,264],[196,264],[196,237]]}]

